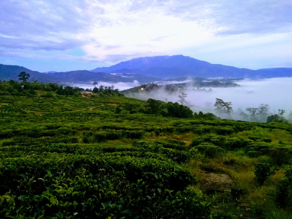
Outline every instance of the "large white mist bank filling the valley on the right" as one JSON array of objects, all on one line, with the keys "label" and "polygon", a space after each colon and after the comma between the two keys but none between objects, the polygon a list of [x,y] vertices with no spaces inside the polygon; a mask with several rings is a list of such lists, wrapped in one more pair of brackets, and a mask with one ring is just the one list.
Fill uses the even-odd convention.
[{"label": "large white mist bank filling the valley on the right", "polygon": [[[261,103],[268,104],[270,106],[270,112],[272,114],[278,114],[278,109],[286,110],[284,116],[292,111],[292,78],[270,78],[262,80],[240,80],[235,81],[240,87],[230,88],[212,88],[205,87],[200,88],[188,88],[182,89],[177,92],[169,93],[160,88],[151,92],[135,93],[131,97],[147,100],[148,98],[177,102],[179,100],[178,95],[182,92],[187,94],[186,100],[188,106],[194,112],[214,112],[215,98],[220,98],[225,102],[232,102],[233,114],[232,118],[237,118],[237,112],[240,110],[245,111],[247,107],[257,108]],[[212,91],[208,91],[209,88]],[[239,111],[238,111],[239,110]]]}]

